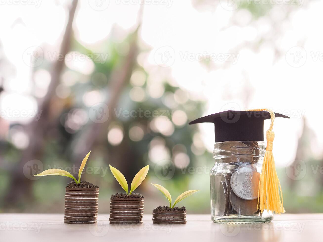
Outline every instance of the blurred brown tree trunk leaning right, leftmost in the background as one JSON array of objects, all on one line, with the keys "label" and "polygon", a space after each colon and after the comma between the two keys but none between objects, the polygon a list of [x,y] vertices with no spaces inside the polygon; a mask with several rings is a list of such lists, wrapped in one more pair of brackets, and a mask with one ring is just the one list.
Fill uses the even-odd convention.
[{"label": "blurred brown tree trunk leaning right, leftmost in the background", "polygon": [[[71,37],[73,34],[72,25],[78,0],[73,0],[68,14],[68,22],[65,33],[63,35],[60,54],[65,57],[70,49]],[[51,70],[51,83],[48,87],[46,96],[38,104],[38,111],[42,112],[39,120],[33,120],[24,127],[29,136],[29,146],[22,152],[18,165],[11,173],[10,187],[5,196],[5,207],[15,207],[17,203],[25,204],[26,200],[32,199],[31,188],[32,180],[26,178],[23,173],[26,162],[43,157],[44,146],[46,145],[46,137],[52,120],[52,104],[56,98],[55,92],[59,84],[59,78],[64,68],[64,60],[56,60]],[[37,172],[37,171],[36,171]]]}]

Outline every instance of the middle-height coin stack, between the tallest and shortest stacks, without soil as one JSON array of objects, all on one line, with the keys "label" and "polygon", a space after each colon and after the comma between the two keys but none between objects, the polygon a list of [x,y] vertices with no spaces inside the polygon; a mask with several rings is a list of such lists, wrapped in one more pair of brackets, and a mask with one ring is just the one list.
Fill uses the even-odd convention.
[{"label": "middle-height coin stack, between the tallest and shortest stacks, without soil", "polygon": [[144,198],[111,198],[110,224],[142,224]]}]

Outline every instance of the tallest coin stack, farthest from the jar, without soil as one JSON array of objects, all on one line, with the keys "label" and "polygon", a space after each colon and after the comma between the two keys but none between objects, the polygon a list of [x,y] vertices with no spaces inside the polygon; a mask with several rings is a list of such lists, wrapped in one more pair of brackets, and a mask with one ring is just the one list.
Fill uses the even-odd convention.
[{"label": "tallest coin stack, farthest from the jar, without soil", "polygon": [[64,223],[97,223],[98,198],[99,188],[66,188]]}]

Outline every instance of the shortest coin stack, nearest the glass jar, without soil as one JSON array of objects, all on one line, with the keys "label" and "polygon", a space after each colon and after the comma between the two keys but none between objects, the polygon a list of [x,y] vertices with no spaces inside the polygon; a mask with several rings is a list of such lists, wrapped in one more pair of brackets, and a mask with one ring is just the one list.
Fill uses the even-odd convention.
[{"label": "shortest coin stack, nearest the glass jar, without soil", "polygon": [[186,210],[184,211],[154,211],[152,210],[154,224],[186,224]]}]

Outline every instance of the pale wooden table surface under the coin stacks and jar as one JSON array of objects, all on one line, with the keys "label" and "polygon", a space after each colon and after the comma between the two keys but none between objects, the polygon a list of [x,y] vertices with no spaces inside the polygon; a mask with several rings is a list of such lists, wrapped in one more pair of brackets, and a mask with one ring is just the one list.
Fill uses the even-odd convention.
[{"label": "pale wooden table surface under the coin stacks and jar", "polygon": [[68,225],[62,214],[0,214],[0,241],[323,241],[323,214],[275,215],[271,223],[215,224],[210,215],[187,215],[186,225],[154,225],[144,215],[142,225]]}]

